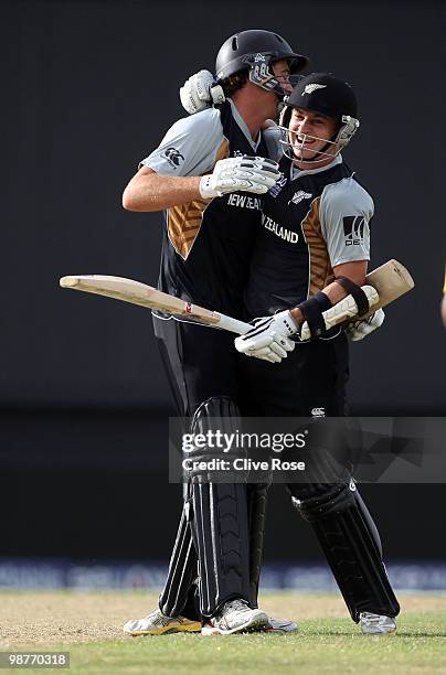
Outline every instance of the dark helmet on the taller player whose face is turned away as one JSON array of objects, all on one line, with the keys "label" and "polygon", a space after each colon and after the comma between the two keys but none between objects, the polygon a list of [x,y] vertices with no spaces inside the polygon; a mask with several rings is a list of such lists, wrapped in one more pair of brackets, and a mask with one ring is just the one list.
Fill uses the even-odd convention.
[{"label": "dark helmet on the taller player whose face is turned away", "polygon": [[308,64],[307,56],[296,54],[282,35],[272,31],[251,30],[231,35],[222,44],[215,61],[216,82],[235,73],[247,71],[251,82],[264,89],[275,89],[280,96],[278,81],[269,69],[275,61],[287,60],[291,74],[298,73]]}]

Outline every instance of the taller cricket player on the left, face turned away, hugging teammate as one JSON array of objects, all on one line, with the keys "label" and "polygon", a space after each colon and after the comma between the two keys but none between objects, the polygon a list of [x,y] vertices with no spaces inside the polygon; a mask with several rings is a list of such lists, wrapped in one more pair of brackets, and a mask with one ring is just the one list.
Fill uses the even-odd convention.
[{"label": "taller cricket player on the left, face turned away, hugging teammate", "polygon": [[[259,197],[279,176],[277,163],[265,159],[262,126],[276,117],[278,104],[291,90],[290,74],[306,63],[276,33],[249,30],[232,35],[216,57],[217,83],[226,100],[176,122],[140,163],[123,204],[130,211],[166,211],[161,290],[242,315],[261,225]],[[234,351],[232,338],[160,313],[153,323],[179,415],[193,416],[192,430],[222,417],[235,427],[243,413],[238,369],[244,357]],[[195,451],[194,459],[205,459],[206,452]],[[159,609],[129,621],[127,633],[295,628],[274,623],[257,608],[266,486],[209,479],[200,472],[190,476]],[[197,562],[199,614],[191,597]]]}]

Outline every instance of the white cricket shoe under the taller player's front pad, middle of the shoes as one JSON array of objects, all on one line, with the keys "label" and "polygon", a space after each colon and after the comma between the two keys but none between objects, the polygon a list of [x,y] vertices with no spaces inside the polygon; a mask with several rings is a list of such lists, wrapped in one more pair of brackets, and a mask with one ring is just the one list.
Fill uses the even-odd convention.
[{"label": "white cricket shoe under the taller player's front pad, middle of the shoes", "polygon": [[201,629],[202,635],[232,635],[262,631],[268,624],[268,615],[259,609],[251,609],[246,600],[230,600]]}]

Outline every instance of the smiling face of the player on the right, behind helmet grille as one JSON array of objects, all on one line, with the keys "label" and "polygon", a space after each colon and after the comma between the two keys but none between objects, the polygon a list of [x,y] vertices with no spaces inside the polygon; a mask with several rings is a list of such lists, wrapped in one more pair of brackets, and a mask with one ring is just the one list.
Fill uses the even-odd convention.
[{"label": "smiling face of the player on the right, behind helmet grille", "polygon": [[331,117],[304,108],[294,108],[289,120],[289,143],[295,163],[305,169],[317,169],[329,164],[338,153],[338,144],[331,141],[339,124]]}]

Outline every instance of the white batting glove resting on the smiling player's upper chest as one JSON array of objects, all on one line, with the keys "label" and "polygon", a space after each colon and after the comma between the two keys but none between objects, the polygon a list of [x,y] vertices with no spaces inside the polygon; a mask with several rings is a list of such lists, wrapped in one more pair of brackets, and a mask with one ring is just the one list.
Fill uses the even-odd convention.
[{"label": "white batting glove resting on the smiling player's upper chest", "polygon": [[204,200],[229,192],[265,194],[279,175],[277,162],[244,154],[217,161],[213,172],[201,178],[199,189]]}]

